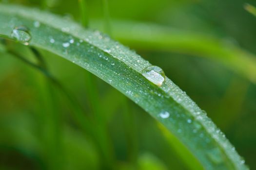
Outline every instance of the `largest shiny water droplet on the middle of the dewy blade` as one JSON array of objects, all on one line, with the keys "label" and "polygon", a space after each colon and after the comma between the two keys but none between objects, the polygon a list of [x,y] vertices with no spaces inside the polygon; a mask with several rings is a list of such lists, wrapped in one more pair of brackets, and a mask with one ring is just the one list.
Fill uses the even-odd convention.
[{"label": "largest shiny water droplet on the middle of the dewy blade", "polygon": [[165,74],[162,68],[158,66],[149,66],[142,70],[142,75],[155,85],[161,86],[165,80]]}]

